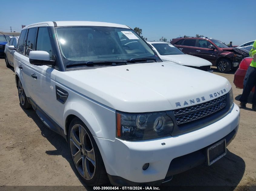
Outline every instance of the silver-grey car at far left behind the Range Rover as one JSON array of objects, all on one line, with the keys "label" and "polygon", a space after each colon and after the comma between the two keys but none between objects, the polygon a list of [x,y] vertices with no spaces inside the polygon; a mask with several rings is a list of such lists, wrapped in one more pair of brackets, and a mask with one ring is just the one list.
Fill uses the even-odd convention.
[{"label": "silver-grey car at far left behind the Range Rover", "polygon": [[13,66],[13,56],[16,51],[19,37],[12,37],[8,43],[5,44],[5,64],[7,67]]}]

